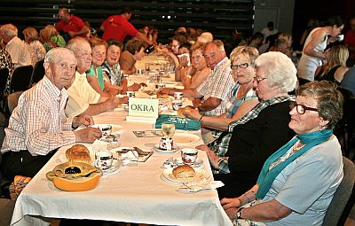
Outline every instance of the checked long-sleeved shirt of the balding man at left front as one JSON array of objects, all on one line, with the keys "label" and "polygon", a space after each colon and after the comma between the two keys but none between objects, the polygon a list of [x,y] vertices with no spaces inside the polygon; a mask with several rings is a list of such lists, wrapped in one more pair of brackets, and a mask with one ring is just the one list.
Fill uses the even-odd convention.
[{"label": "checked long-sleeved shirt of the balding man at left front", "polygon": [[24,92],[5,129],[1,152],[28,150],[33,156],[46,155],[63,145],[74,144],[72,119],[64,113],[67,91],[59,90],[44,76]]}]

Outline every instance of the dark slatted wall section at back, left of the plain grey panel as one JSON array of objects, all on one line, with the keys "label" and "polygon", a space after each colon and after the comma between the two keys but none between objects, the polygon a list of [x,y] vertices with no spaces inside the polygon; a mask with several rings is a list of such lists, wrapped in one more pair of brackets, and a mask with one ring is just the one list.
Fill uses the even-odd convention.
[{"label": "dark slatted wall section at back, left of the plain grey panel", "polygon": [[108,16],[118,14],[123,6],[134,10],[130,22],[136,28],[149,24],[159,29],[160,41],[166,42],[177,27],[201,28],[224,38],[232,29],[252,32],[254,0],[1,0],[0,24],[13,23],[19,30],[37,29],[58,21],[58,11],[70,12],[99,28]]}]

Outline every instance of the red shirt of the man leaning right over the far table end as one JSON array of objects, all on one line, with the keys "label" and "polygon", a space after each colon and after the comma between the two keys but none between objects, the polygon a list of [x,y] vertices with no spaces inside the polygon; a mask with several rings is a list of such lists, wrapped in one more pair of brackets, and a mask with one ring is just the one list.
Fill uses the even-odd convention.
[{"label": "red shirt of the man leaning right over the far table end", "polygon": [[124,38],[127,35],[134,36],[138,33],[138,30],[127,19],[124,19],[121,15],[114,15],[108,17],[101,25],[105,28],[103,40],[115,39],[118,42],[123,43]]}]

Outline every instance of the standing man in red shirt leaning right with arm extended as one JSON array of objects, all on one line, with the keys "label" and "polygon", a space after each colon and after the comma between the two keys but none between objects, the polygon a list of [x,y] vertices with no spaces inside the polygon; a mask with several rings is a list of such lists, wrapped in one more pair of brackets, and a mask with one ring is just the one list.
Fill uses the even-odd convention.
[{"label": "standing man in red shirt leaning right with arm extended", "polygon": [[146,35],[140,33],[131,23],[130,17],[132,11],[128,7],[124,7],[121,10],[120,15],[113,15],[105,19],[101,24],[100,29],[104,32],[102,39],[107,41],[109,39],[115,39],[120,43],[124,42],[127,35],[138,37],[148,44],[152,44],[148,40]]}]

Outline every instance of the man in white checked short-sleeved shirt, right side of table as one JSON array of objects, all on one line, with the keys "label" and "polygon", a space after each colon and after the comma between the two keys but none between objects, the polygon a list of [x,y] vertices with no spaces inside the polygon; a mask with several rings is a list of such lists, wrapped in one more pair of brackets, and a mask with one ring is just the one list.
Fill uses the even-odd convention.
[{"label": "man in white checked short-sleeved shirt, right side of table", "polygon": [[184,97],[195,98],[193,106],[203,115],[220,115],[225,113],[225,105],[234,85],[231,62],[226,57],[224,44],[220,40],[208,43],[203,56],[212,72],[198,88],[185,90],[162,88],[159,93],[174,95],[174,92],[181,91]]}]

